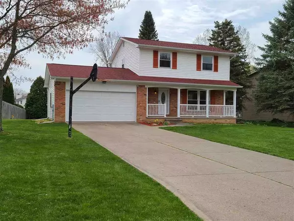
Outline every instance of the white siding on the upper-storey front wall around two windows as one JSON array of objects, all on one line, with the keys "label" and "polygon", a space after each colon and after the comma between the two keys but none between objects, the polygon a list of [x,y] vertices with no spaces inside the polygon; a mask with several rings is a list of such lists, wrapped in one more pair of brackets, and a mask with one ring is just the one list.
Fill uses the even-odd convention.
[{"label": "white siding on the upper-storey front wall around two windows", "polygon": [[[173,51],[170,52],[172,53]],[[141,76],[166,78],[229,80],[229,56],[219,55],[219,72],[207,70],[196,71],[196,54],[200,53],[177,52],[177,69],[153,68],[153,50],[141,48],[140,70],[137,74]],[[213,56],[214,54],[202,55]]]}]

